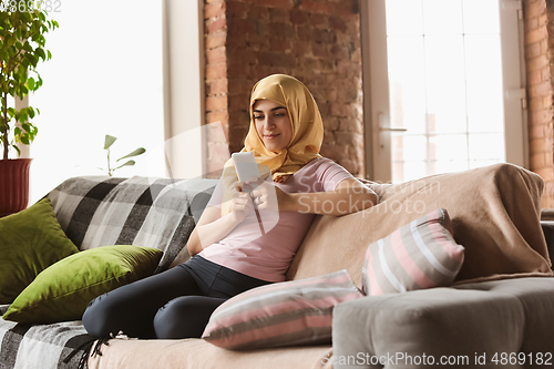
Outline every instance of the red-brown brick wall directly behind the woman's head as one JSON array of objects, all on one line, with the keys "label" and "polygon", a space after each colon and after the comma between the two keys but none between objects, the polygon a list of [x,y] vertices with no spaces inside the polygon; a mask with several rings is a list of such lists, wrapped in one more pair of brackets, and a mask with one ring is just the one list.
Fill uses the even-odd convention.
[{"label": "red-brown brick wall directly behind the woman's head", "polygon": [[[360,18],[357,0],[205,0],[206,122],[229,152],[248,132],[253,85],[273,73],[302,81],[321,111],[321,155],[363,176]],[[208,170],[226,143],[209,141]]]}]

